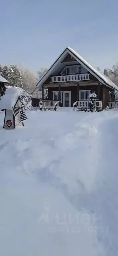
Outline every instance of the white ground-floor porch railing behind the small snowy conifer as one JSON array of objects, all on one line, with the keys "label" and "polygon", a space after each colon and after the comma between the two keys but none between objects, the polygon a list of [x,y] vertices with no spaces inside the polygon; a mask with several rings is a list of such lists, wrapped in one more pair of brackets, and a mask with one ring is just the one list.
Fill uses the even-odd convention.
[{"label": "white ground-floor porch railing behind the small snowy conifer", "polygon": [[[78,109],[87,109],[88,100],[77,100],[73,103],[73,107],[77,106]],[[96,108],[102,109],[102,101],[96,100]]]}]

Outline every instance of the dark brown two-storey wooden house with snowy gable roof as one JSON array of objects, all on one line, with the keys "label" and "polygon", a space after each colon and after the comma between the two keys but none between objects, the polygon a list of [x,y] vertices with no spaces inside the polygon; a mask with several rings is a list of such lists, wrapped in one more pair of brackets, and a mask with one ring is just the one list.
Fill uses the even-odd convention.
[{"label": "dark brown two-storey wooden house with snowy gable roof", "polygon": [[89,95],[95,92],[98,110],[114,101],[115,90],[118,91],[118,86],[70,47],[59,55],[36,87],[42,87],[43,101],[44,89],[48,89],[49,105],[51,101],[58,101],[60,107],[73,107],[77,103],[80,109],[87,108]]}]

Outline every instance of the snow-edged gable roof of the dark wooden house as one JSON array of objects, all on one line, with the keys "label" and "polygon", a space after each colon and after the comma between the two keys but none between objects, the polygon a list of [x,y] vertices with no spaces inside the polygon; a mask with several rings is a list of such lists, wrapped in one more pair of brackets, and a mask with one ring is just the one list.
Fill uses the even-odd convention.
[{"label": "snow-edged gable roof of the dark wooden house", "polygon": [[115,85],[107,76],[105,76],[97,68],[94,68],[93,66],[91,66],[86,60],[84,60],[77,52],[75,52],[70,47],[66,47],[64,49],[64,51],[59,55],[59,57],[56,59],[56,61],[48,69],[48,71],[40,78],[40,80],[36,84],[36,87],[40,87],[48,79],[48,77],[51,76],[52,72],[59,66],[61,61],[64,59],[64,57],[68,53],[75,59],[75,61],[78,61],[84,68],[86,68],[102,84],[105,84],[106,86],[118,91],[117,85]]}]

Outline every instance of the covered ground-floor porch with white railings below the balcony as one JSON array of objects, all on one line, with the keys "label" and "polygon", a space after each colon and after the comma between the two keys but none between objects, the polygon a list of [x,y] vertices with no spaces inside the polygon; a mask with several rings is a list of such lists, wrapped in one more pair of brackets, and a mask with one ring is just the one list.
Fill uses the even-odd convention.
[{"label": "covered ground-floor porch with white railings below the balcony", "polygon": [[[53,108],[55,107],[73,107],[73,104],[75,104],[74,107],[77,106],[79,109],[87,109],[88,107],[88,100],[89,95],[91,91],[96,92],[97,94],[97,103],[96,108],[97,110],[102,110],[102,96],[100,94],[99,90],[99,83],[89,83],[89,81],[86,83],[81,82],[77,84],[76,82],[74,84],[68,83],[66,86],[65,83],[57,83],[55,86],[50,85],[48,86],[48,99],[43,100],[43,106],[46,108]],[[42,87],[42,96],[43,96],[43,87]]]}]

